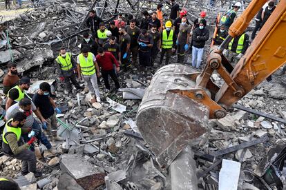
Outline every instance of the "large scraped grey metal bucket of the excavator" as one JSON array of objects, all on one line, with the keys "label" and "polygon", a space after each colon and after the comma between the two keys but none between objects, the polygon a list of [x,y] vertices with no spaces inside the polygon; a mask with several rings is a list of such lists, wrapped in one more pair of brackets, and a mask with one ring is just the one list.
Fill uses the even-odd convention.
[{"label": "large scraped grey metal bucket of the excavator", "polygon": [[168,167],[184,147],[198,145],[208,134],[208,107],[175,93],[196,87],[190,78],[194,72],[189,65],[161,67],[138,109],[136,125],[161,167]]}]

